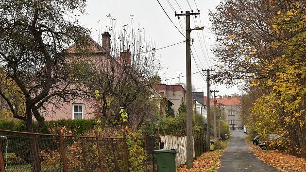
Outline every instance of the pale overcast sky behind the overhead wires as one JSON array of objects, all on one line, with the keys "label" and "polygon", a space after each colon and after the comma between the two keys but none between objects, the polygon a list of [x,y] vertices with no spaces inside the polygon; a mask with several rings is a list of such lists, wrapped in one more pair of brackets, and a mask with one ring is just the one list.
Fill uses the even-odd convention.
[{"label": "pale overcast sky behind the overhead wires", "polygon": [[[168,13],[174,24],[180,29],[180,23],[185,34],[185,20],[181,17],[179,22],[177,17],[174,17],[174,11],[170,7],[170,4],[178,13],[181,12],[182,8],[184,11],[191,11],[187,3],[187,0],[159,0],[165,11]],[[214,56],[211,53],[211,48],[215,44],[215,36],[210,31],[210,22],[208,18],[208,10],[215,10],[220,0],[188,0],[192,10],[197,12],[197,7],[200,10],[200,17],[196,19],[190,17],[190,27],[201,24],[205,26],[203,31],[192,31],[191,38],[194,39],[193,47],[191,50],[194,54],[194,59],[191,57],[191,68],[192,73],[198,72],[202,69],[214,68],[213,65],[218,63],[214,60]],[[196,3],[195,3],[196,2]],[[197,5],[197,7],[196,7]],[[92,38],[97,40],[98,25],[100,30],[103,32],[106,29],[107,23],[109,22],[107,15],[111,15],[116,19],[116,25],[130,24],[131,16],[133,16],[134,25],[140,25],[146,32],[146,35],[150,36],[157,48],[165,47],[174,43],[178,43],[184,40],[182,34],[170,22],[157,0],[87,0],[86,6],[87,15],[80,16],[80,23],[86,28],[91,29]],[[100,21],[99,21],[100,20]],[[98,24],[99,21],[99,24]],[[197,24],[197,25],[196,25]],[[201,38],[201,41],[199,40]],[[203,38],[204,37],[204,38]],[[201,46],[202,45],[202,46]],[[206,45],[206,46],[205,46]],[[181,43],[169,48],[157,50],[156,54],[160,58],[163,69],[160,72],[162,83],[164,84],[175,84],[179,82],[179,79],[169,79],[186,75],[186,45]],[[207,55],[208,54],[208,55]],[[207,57],[208,56],[208,57]],[[201,72],[203,74],[203,72]],[[165,80],[168,79],[168,80]],[[206,94],[206,77],[201,77],[200,72],[192,75],[192,85],[197,88],[197,91],[204,91]],[[180,82],[186,83],[186,77],[181,77]],[[237,86],[226,88],[226,86],[215,86],[212,85],[212,89],[219,89],[220,95],[239,93]]]}]

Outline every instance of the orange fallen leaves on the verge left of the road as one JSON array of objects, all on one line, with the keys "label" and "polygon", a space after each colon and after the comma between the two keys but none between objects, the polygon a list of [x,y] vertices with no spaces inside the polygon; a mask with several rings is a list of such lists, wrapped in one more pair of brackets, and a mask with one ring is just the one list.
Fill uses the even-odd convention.
[{"label": "orange fallen leaves on the verge left of the road", "polygon": [[184,167],[178,169],[178,172],[217,172],[223,151],[215,150],[213,152],[205,152],[193,161],[192,169],[187,169],[186,165],[184,165]]}]

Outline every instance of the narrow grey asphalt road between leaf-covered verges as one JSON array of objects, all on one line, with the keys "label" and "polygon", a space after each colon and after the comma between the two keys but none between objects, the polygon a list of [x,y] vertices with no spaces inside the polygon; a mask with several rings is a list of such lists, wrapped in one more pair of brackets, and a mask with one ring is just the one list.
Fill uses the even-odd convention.
[{"label": "narrow grey asphalt road between leaf-covered verges", "polygon": [[228,148],[221,156],[218,172],[278,172],[249,151],[243,130],[236,129],[231,134]]}]

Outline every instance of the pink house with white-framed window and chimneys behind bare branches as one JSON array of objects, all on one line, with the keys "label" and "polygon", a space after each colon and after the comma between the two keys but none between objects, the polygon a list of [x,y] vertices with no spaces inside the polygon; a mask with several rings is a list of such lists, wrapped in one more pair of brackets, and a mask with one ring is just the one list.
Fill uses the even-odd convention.
[{"label": "pink house with white-framed window and chimneys behind bare branches", "polygon": [[[131,52],[120,52],[119,57],[113,58],[110,53],[110,34],[105,32],[102,34],[102,46],[89,37],[89,56],[86,56],[88,60],[95,61],[99,60],[99,64],[94,64],[99,68],[99,65],[107,66],[108,62],[116,62],[116,70],[120,70],[122,65],[131,64]],[[70,55],[75,56],[76,58],[80,57],[80,53],[76,52],[75,46],[68,48],[67,52]],[[103,63],[103,64],[102,64]],[[95,67],[94,67],[95,68]],[[111,67],[110,67],[111,68]],[[116,71],[115,71],[116,72]],[[136,72],[135,72],[136,73]],[[137,74],[137,73],[136,73]],[[143,79],[144,80],[144,79]],[[154,90],[152,87],[149,87],[149,90],[152,92],[150,97],[151,101],[158,100],[158,107],[162,109],[162,102],[165,102],[165,96],[160,94],[158,91]],[[168,100],[166,100],[168,101]],[[84,98],[77,98],[68,103],[61,103],[54,105],[50,103],[47,105],[47,112],[43,114],[45,120],[59,120],[59,119],[90,119],[94,117],[94,98],[85,100]]]}]

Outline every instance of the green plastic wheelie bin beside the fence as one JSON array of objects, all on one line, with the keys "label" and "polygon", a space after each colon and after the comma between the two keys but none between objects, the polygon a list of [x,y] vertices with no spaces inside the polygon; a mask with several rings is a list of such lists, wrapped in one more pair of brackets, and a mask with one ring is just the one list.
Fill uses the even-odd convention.
[{"label": "green plastic wheelie bin beside the fence", "polygon": [[176,172],[175,164],[175,149],[159,149],[155,150],[154,154],[157,162],[158,172]]}]

